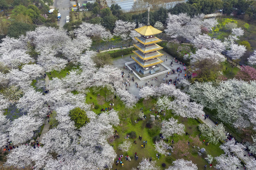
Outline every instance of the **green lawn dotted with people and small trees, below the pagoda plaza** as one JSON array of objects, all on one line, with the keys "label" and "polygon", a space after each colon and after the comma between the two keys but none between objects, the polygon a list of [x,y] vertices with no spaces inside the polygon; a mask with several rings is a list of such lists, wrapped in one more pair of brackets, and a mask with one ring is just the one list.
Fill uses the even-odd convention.
[{"label": "green lawn dotted with people and small trees, below the pagoda plaza", "polygon": [[[86,97],[86,102],[88,104],[94,104],[94,107],[96,105],[99,106],[98,109],[95,108],[91,108],[91,110],[93,110],[94,112],[96,112],[97,114],[101,113],[101,108],[106,108],[106,107],[110,107],[110,102],[105,102],[102,107],[101,105],[98,104],[98,97],[97,94],[100,94],[101,96],[106,97],[106,88],[90,88],[88,89],[88,93],[87,93],[87,97]],[[117,155],[119,156],[120,154],[123,154],[124,156],[126,156],[126,153],[120,151],[118,149],[118,145],[123,143],[125,140],[129,140],[130,142],[132,142],[132,146],[128,151],[128,155],[131,158],[131,161],[126,161],[124,158],[122,159],[123,163],[124,163],[124,167],[121,167],[120,163],[118,166],[116,166],[116,164],[113,164],[113,168],[117,168],[117,169],[122,169],[122,170],[131,170],[132,167],[137,167],[137,165],[139,164],[139,162],[142,160],[142,157],[146,157],[146,158],[150,158],[152,157],[153,161],[157,160],[157,158],[155,157],[155,154],[157,153],[155,151],[155,147],[154,147],[154,138],[158,137],[160,134],[160,129],[161,129],[161,121],[164,119],[168,119],[171,117],[174,117],[175,119],[179,120],[179,123],[183,123],[186,127],[185,132],[188,132],[190,134],[190,136],[195,137],[198,136],[200,134],[200,131],[198,130],[198,125],[200,124],[200,121],[198,121],[197,119],[186,119],[186,118],[182,118],[182,117],[177,117],[174,116],[171,112],[171,110],[167,110],[165,113],[165,117],[163,116],[162,113],[160,113],[160,119],[156,119],[155,120],[155,125],[152,128],[147,128],[146,127],[146,123],[148,122],[148,120],[150,119],[150,114],[154,114],[155,111],[150,111],[149,109],[153,109],[155,107],[155,103],[156,100],[155,98],[153,99],[149,99],[149,100],[139,100],[136,104],[136,106],[132,109],[128,109],[125,107],[125,105],[123,104],[123,102],[121,102],[118,98],[114,98],[111,102],[114,102],[114,109],[119,111],[119,119],[120,119],[120,125],[118,127],[114,127],[115,130],[118,131],[118,135],[119,138],[116,138],[114,140],[113,143],[111,143],[111,145],[114,147]],[[144,113],[146,115],[146,120],[140,120],[138,118],[138,114],[140,112],[140,108],[143,107]],[[138,120],[138,123],[135,123],[135,120]],[[137,141],[137,144],[133,143],[133,139],[125,139],[126,135],[131,132],[131,131],[135,131],[137,134],[137,138],[135,139]],[[113,132],[114,133],[114,132]],[[138,139],[138,136],[142,136],[142,141],[140,141]],[[193,141],[189,138],[189,136],[186,136],[185,134],[182,136],[178,136],[178,135],[174,135],[172,137],[170,137],[168,143],[171,144],[171,139],[174,139],[174,143],[181,140],[183,143],[188,142],[188,140],[191,142],[191,144],[193,143]],[[204,139],[203,136],[201,136],[200,140],[202,141]],[[147,141],[146,144],[146,148],[141,148],[141,144],[143,143],[143,140]],[[207,140],[206,140],[207,141]],[[200,148],[204,147],[206,149],[206,151],[211,154],[212,156],[218,156],[221,153],[224,153],[220,148],[219,148],[219,144],[214,145],[214,144],[210,144],[208,146],[206,146],[205,144],[200,145]],[[134,153],[137,152],[137,155],[139,157],[138,161],[136,161],[134,159]],[[167,167],[169,167],[172,162],[176,159],[180,159],[180,158],[184,158],[187,160],[192,160],[193,163],[196,163],[199,169],[202,169],[203,166],[205,164],[207,164],[207,162],[204,160],[204,158],[206,157],[206,155],[203,156],[198,156],[198,149],[197,148],[193,148],[192,145],[189,147],[189,152],[191,153],[190,155],[188,155],[187,157],[182,157],[179,154],[174,154],[172,153],[171,156],[164,156],[161,155],[160,159],[157,160],[157,165],[160,166],[163,170]],[[162,163],[166,164],[166,167],[163,168],[162,167]],[[213,162],[214,165],[214,162]],[[209,166],[208,166],[209,168]],[[209,168],[210,169],[210,168]],[[214,168],[212,168],[212,170],[214,170]]]}]

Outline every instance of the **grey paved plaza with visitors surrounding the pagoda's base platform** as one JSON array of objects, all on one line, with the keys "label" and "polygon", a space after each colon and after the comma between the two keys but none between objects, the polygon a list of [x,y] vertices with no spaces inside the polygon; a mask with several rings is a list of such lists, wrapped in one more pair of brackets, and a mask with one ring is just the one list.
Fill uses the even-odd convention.
[{"label": "grey paved plaza with visitors surrounding the pagoda's base platform", "polygon": [[[130,78],[131,78],[131,80],[129,81],[130,86],[128,83],[127,90],[130,93],[137,96],[137,98],[140,98],[140,96],[139,96],[140,89],[137,88],[137,86],[135,85],[136,82],[138,83],[138,86],[141,86],[141,87],[142,87],[142,85],[143,85],[143,87],[145,87],[146,84],[153,85],[153,86],[159,86],[160,84],[165,83],[166,80],[172,79],[174,81],[176,76],[177,76],[177,79],[179,78],[179,80],[181,80],[184,77],[185,71],[183,70],[183,65],[175,63],[174,57],[167,54],[166,52],[164,52],[164,51],[160,51],[160,52],[164,54],[162,57],[158,57],[159,59],[165,60],[165,62],[163,62],[163,64],[165,64],[167,67],[171,68],[171,70],[172,69],[176,70],[176,68],[178,68],[178,67],[180,67],[182,69],[182,73],[180,73],[180,76],[179,76],[179,73],[173,74],[173,75],[168,75],[168,77],[166,77],[166,74],[162,74],[162,75],[155,76],[155,77],[157,77],[157,80],[155,80],[155,77],[148,78],[146,80],[139,80],[134,74],[131,74],[129,69],[127,69],[127,70],[124,69],[126,62],[133,61],[133,59],[131,59],[129,56],[131,55],[131,57],[135,57],[136,56],[135,54],[130,54],[130,55],[124,56],[123,58],[118,58],[118,59],[113,60],[113,66],[120,68],[125,73],[125,76],[123,78],[123,85],[126,82],[126,78],[128,78],[128,75],[130,75]],[[166,58],[166,56],[167,56],[167,58]],[[166,61],[166,59],[167,59],[167,61]],[[173,59],[173,67],[171,67],[172,59]],[[132,81],[132,77],[134,77],[134,82]],[[165,80],[164,80],[164,78],[165,78]],[[148,82],[149,82],[149,84],[148,84]]]}]

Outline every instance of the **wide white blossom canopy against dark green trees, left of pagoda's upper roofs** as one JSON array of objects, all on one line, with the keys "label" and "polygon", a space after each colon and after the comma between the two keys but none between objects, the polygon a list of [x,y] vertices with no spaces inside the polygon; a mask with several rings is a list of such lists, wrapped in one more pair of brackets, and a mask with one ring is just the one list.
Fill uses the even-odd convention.
[{"label": "wide white blossom canopy against dark green trees, left of pagoda's upper roofs", "polygon": [[98,24],[90,24],[83,22],[79,28],[74,30],[74,34],[77,37],[87,38],[85,36],[98,36],[101,37],[103,40],[108,40],[113,37],[110,31],[106,30],[104,26]]}]

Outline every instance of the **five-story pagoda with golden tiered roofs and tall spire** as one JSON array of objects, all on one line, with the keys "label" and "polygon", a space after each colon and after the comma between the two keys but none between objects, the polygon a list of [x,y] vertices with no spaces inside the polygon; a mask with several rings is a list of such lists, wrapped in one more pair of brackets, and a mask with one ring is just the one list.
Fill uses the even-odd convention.
[{"label": "five-story pagoda with golden tiered roofs and tall spire", "polygon": [[138,72],[141,72],[144,75],[148,73],[154,74],[160,69],[159,64],[163,62],[157,57],[164,54],[157,51],[163,49],[163,47],[156,44],[162,40],[154,35],[162,33],[162,31],[149,25],[149,7],[147,25],[137,28],[135,31],[141,35],[140,37],[135,37],[135,39],[139,42],[134,44],[134,47],[138,49],[133,51],[137,57],[132,57],[132,59],[136,62],[135,68]]}]

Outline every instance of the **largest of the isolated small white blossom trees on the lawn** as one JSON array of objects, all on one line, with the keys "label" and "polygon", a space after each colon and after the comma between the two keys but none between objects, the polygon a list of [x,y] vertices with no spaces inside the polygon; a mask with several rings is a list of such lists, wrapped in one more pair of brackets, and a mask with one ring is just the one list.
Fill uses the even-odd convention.
[{"label": "largest of the isolated small white blossom trees on the lawn", "polygon": [[173,136],[174,134],[182,135],[185,133],[185,126],[181,123],[178,123],[177,119],[170,118],[167,120],[162,121],[162,128],[161,133],[166,138],[169,138],[170,136]]}]

